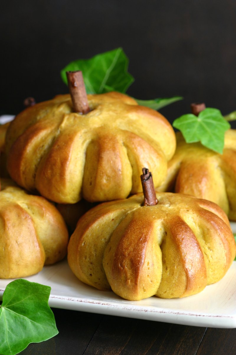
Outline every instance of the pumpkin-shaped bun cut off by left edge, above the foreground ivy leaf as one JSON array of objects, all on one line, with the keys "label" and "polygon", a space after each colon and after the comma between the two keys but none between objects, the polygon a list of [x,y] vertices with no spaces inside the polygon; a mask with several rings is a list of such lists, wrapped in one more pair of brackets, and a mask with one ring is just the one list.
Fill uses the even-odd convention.
[{"label": "pumpkin-shaped bun cut off by left edge, above the foreground ivy leaf", "polygon": [[36,274],[62,260],[67,245],[68,231],[56,207],[1,179],[0,278]]}]

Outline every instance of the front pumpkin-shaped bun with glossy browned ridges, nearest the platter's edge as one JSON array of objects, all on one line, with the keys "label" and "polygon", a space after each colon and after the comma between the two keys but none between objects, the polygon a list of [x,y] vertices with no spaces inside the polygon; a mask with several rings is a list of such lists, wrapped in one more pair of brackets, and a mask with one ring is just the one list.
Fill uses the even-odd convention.
[{"label": "front pumpkin-shaped bun with glossy browned ridges, nearest the platter's edge", "polygon": [[139,194],[81,217],[68,245],[77,278],[140,300],[193,295],[225,275],[236,247],[224,211],[188,195],[156,196],[156,206],[142,206]]}]

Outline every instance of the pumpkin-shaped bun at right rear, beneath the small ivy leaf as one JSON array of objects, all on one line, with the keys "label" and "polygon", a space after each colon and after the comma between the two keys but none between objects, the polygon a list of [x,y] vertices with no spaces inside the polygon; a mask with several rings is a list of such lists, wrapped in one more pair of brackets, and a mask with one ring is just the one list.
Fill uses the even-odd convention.
[{"label": "pumpkin-shaped bun at right rear, beneath the small ivy leaf", "polygon": [[187,144],[180,132],[176,137],[177,148],[168,163],[167,179],[157,190],[212,201],[230,220],[236,220],[236,130],[226,131],[223,154],[201,143]]}]

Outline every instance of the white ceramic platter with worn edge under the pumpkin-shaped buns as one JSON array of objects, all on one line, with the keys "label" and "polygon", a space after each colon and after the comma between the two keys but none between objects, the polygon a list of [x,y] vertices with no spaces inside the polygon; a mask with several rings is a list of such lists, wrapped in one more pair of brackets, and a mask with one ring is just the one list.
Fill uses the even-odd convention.
[{"label": "white ceramic platter with worn edge under the pumpkin-shaped buns", "polygon": [[[231,227],[236,233],[236,223]],[[111,291],[81,283],[66,260],[26,279],[51,286],[50,307],[198,327],[236,328],[236,261],[218,283],[182,299],[153,296],[142,301],[123,300]],[[0,296],[11,281],[0,279]]]}]

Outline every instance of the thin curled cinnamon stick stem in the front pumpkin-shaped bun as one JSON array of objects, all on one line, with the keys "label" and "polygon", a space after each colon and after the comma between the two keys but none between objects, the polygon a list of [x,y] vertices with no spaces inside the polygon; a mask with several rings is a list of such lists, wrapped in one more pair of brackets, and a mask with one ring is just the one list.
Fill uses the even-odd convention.
[{"label": "thin curled cinnamon stick stem in the front pumpkin-shaped bun", "polygon": [[147,168],[143,168],[143,174],[140,176],[142,187],[143,187],[143,195],[144,195],[144,206],[154,206],[158,203],[156,198],[156,191],[154,188],[152,173],[149,172]]}]

